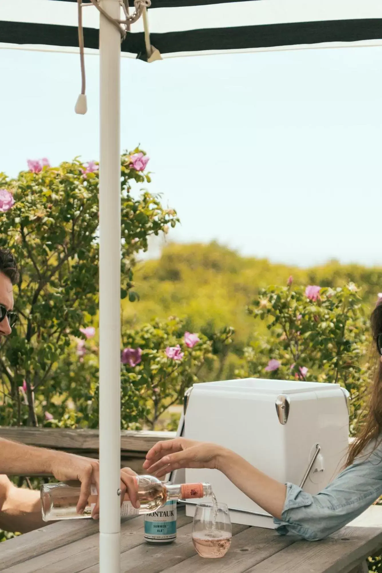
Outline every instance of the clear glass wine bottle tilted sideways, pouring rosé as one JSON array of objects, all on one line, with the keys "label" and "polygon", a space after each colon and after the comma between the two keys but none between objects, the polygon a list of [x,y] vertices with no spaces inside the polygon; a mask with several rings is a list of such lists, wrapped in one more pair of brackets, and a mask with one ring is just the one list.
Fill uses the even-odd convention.
[{"label": "clear glass wine bottle tilted sideways, pouring ros\u00e9", "polygon": [[[121,506],[121,517],[152,513],[161,508],[168,501],[182,499],[197,499],[210,497],[212,488],[210,484],[164,484],[153,476],[136,476],[138,488],[138,500],[141,507],[136,509],[124,497]],[[59,519],[84,519],[91,517],[97,490],[91,486],[89,500],[85,511],[77,513],[77,503],[81,484],[79,481],[59,482],[58,484],[43,484],[41,486],[42,519],[53,521]]]}]

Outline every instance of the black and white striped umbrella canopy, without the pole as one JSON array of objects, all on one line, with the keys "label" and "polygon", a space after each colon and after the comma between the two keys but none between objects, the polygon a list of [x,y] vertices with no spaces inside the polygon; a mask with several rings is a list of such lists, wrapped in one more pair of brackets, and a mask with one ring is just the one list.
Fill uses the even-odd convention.
[{"label": "black and white striped umbrella canopy, without the pole", "polygon": [[[0,42],[75,48],[76,5],[77,0],[2,0]],[[99,14],[83,12],[85,48],[98,49]],[[382,38],[379,0],[152,0],[148,12],[151,43],[162,56],[376,45]],[[121,51],[145,53],[141,20]]]}]

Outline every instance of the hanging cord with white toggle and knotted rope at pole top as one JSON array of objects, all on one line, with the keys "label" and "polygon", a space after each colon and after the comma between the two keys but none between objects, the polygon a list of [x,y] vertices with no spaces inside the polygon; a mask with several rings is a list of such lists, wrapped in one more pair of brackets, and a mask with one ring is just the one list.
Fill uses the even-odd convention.
[{"label": "hanging cord with white toggle and knotted rope at pole top", "polygon": [[[125,19],[120,20],[118,18],[112,18],[105,10],[100,6],[99,0],[90,0],[90,2],[83,3],[82,0],[77,0],[78,7],[78,45],[79,45],[79,60],[81,62],[81,93],[78,96],[77,103],[75,104],[75,113],[84,115],[87,112],[87,102],[86,102],[86,77],[85,77],[85,53],[84,53],[84,41],[83,41],[83,24],[82,24],[82,8],[85,6],[95,6],[97,10],[106,18],[113,26],[118,28],[121,34],[121,42],[125,40],[126,34],[130,31],[130,25],[144,14],[144,29],[145,29],[145,44],[146,50],[148,50],[148,58],[153,56],[155,50],[150,45],[150,34],[148,29],[148,18],[147,9],[151,6],[151,0],[134,0],[134,12],[129,13],[129,2],[128,0],[120,0],[120,5],[124,10]],[[155,59],[160,59],[156,57]],[[149,60],[148,60],[149,61]]]}]

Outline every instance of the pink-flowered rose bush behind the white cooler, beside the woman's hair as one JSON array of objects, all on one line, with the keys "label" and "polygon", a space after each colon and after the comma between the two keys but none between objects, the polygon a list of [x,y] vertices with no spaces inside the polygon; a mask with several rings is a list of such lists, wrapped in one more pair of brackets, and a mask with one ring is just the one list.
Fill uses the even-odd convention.
[{"label": "pink-flowered rose bush behind the white cooler, beside the woman's hair", "polygon": [[238,376],[339,383],[351,395],[351,431],[369,376],[369,323],[357,287],[270,286],[247,312],[264,320],[267,336],[244,349]]}]

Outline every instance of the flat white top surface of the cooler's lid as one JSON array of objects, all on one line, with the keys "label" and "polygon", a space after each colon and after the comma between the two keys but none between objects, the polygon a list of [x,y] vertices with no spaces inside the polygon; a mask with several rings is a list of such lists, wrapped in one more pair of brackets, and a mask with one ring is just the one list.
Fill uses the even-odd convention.
[{"label": "flat white top surface of the cooler's lid", "polygon": [[221,380],[221,382],[203,382],[194,384],[198,390],[220,388],[225,392],[243,392],[250,394],[296,394],[300,392],[320,392],[338,390],[339,384],[324,382],[300,382],[299,380],[270,380],[263,378],[241,378],[237,380]]}]

